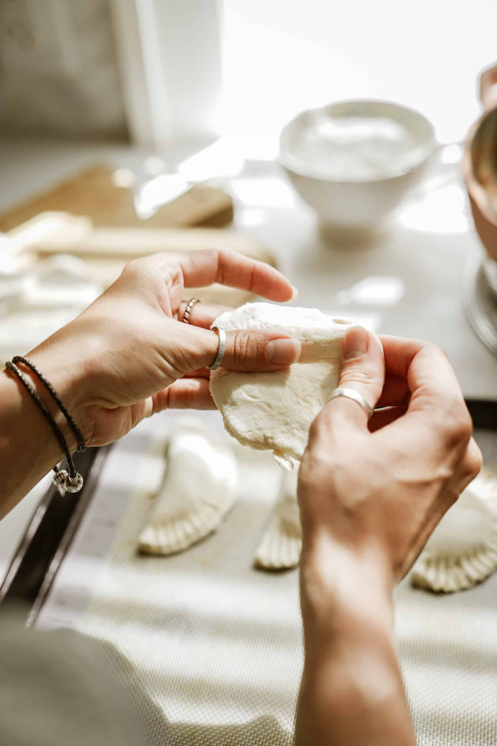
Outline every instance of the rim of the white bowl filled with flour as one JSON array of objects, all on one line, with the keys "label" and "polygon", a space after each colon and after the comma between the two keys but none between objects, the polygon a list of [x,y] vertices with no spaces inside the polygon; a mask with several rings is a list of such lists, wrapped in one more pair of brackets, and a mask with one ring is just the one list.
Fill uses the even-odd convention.
[{"label": "rim of the white bowl filled with flour", "polygon": [[[313,169],[311,167],[306,168],[306,163],[303,160],[300,160],[293,154],[291,154],[291,151],[288,149],[288,147],[285,147],[285,140],[288,139],[289,134],[291,133],[291,129],[294,128],[294,126],[304,117],[308,116],[309,114],[320,112],[320,111],[326,111],[327,109],[330,109],[331,107],[339,107],[343,105],[357,105],[357,104],[371,104],[371,105],[378,105],[381,104],[382,106],[386,105],[387,107],[392,107],[393,109],[402,110],[405,112],[408,112],[410,114],[414,114],[419,119],[422,120],[422,122],[427,126],[428,129],[428,138],[423,145],[419,145],[418,148],[415,148],[415,151],[418,151],[419,156],[417,157],[417,160],[414,164],[410,164],[409,166],[404,166],[403,168],[399,168],[397,172],[390,174],[388,176],[379,176],[379,177],[371,177],[371,178],[352,178],[352,179],[345,179],[345,178],[325,178],[321,175],[317,175],[315,172],[313,172]],[[438,143],[437,143],[437,136],[436,131],[433,122],[431,122],[430,119],[428,119],[425,114],[420,112],[417,109],[414,109],[413,107],[406,106],[405,104],[400,104],[399,101],[390,101],[390,99],[387,98],[341,98],[337,101],[329,101],[327,104],[323,104],[323,106],[317,106],[312,107],[309,109],[303,109],[299,113],[297,113],[295,116],[292,117],[282,128],[282,131],[279,134],[279,152],[277,156],[277,162],[280,166],[282,166],[284,169],[286,169],[288,172],[293,173],[298,176],[304,176],[306,178],[314,179],[315,181],[321,181],[324,184],[373,184],[373,183],[379,183],[381,181],[390,181],[391,179],[400,178],[402,176],[408,175],[409,173],[415,171],[416,169],[420,168],[423,163],[426,163],[426,161],[431,157],[432,154],[434,154],[434,151],[437,150]]]}]

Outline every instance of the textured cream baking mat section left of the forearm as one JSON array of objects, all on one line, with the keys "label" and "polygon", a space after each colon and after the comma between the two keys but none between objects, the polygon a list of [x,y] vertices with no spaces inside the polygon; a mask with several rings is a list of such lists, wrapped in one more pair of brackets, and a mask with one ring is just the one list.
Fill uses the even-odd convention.
[{"label": "textured cream baking mat section left of the forearm", "polygon": [[[149,420],[132,433],[133,448],[127,439],[115,446],[101,476],[107,492],[95,493],[94,517],[86,516],[37,626],[77,627],[113,639],[148,698],[166,713],[158,743],[168,743],[178,733],[191,742],[203,729],[212,743],[223,743],[218,727],[231,739],[232,727],[237,730],[260,718],[271,739],[278,734],[269,743],[285,743],[303,662],[298,577],[296,571],[253,569],[276,499],[279,467],[268,452],[237,448],[218,413],[202,413],[212,430],[237,450],[235,507],[214,536],[189,551],[169,558],[137,556],[136,539],[151,509],[151,489],[160,482],[159,454],[176,419],[168,413]],[[118,533],[81,613],[107,541],[105,523],[113,521],[110,502],[121,510],[127,489],[131,496]],[[101,499],[107,501],[104,513],[98,507]],[[137,709],[145,727],[148,705],[145,700]]]}]

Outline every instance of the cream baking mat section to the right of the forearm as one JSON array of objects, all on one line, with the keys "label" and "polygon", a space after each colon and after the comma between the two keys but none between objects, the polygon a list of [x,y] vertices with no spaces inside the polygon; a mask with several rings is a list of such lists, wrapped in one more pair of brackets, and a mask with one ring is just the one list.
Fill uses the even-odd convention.
[{"label": "cream baking mat section to the right of the forearm", "polygon": [[[479,413],[484,421],[490,408]],[[494,425],[496,419],[494,415]],[[497,474],[497,433],[475,430]],[[405,580],[396,639],[420,746],[497,743],[497,573],[469,591],[434,594]]]}]

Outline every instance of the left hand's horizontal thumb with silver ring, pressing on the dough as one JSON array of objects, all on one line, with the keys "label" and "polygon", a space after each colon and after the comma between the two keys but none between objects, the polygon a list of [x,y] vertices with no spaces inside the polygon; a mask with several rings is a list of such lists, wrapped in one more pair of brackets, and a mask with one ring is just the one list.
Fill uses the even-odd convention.
[{"label": "left hand's horizontal thumb with silver ring, pressing on the dough", "polygon": [[[189,328],[191,348],[190,370],[214,363],[218,354],[219,336],[211,330]],[[270,331],[227,331],[226,351],[221,366],[232,371],[277,371],[297,363],[301,345],[298,339]]]}]

